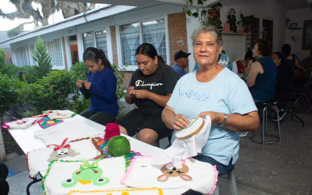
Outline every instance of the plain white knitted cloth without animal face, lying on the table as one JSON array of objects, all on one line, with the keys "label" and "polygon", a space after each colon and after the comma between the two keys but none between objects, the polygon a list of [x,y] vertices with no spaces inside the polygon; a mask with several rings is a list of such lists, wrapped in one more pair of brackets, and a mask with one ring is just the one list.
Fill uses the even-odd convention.
[{"label": "plain white knitted cloth without animal face, lying on the table", "polygon": [[36,138],[42,139],[47,145],[62,143],[68,137],[68,141],[82,138],[101,137],[103,134],[77,119],[64,121],[47,129],[39,129],[34,132]]}]

